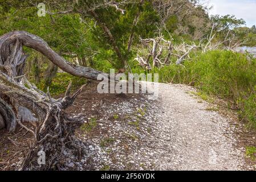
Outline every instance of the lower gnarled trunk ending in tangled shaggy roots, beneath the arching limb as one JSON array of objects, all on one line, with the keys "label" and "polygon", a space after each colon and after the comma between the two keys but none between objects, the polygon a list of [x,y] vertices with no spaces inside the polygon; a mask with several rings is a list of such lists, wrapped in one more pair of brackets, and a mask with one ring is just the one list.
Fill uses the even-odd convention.
[{"label": "lower gnarled trunk ending in tangled shaggy roots, beneath the arching limb", "polygon": [[[0,92],[13,98],[17,104],[30,109],[39,118],[39,124],[34,130],[28,129],[18,121],[19,125],[34,135],[31,150],[27,152],[21,169],[62,169],[66,167],[65,159],[68,158],[64,151],[69,151],[75,156],[82,155],[83,143],[75,139],[74,131],[82,125],[84,118],[69,118],[64,109],[73,103],[76,96],[82,91],[83,86],[73,96],[69,96],[70,84],[64,98],[54,100],[50,97],[50,94],[37,90],[25,77],[22,78],[22,81],[17,82],[14,78],[0,72]],[[10,114],[11,110],[8,113],[9,108],[5,108],[4,101],[1,100],[0,104],[0,115],[5,120],[8,117],[10,119],[10,116],[13,116]],[[2,108],[5,108],[3,113]],[[6,116],[5,114],[9,115]],[[7,124],[10,124],[10,122],[7,122]],[[38,164],[39,151],[46,154],[47,161],[42,166]],[[78,162],[78,160],[76,161]]]}]

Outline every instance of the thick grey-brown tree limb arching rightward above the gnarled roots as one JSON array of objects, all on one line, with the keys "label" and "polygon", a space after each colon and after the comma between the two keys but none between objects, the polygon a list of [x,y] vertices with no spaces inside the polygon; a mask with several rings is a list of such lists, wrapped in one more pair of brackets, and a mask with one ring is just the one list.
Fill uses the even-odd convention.
[{"label": "thick grey-brown tree limb arching rightward above the gnarled roots", "polygon": [[[21,42],[21,44],[18,44]],[[70,73],[74,76],[90,78],[93,80],[97,80],[97,75],[99,75],[100,71],[96,71],[95,69],[88,67],[81,67],[79,65],[74,65],[66,61],[63,57],[59,56],[56,52],[54,52],[43,39],[39,36],[30,34],[25,31],[14,31],[9,32],[0,37],[0,67],[5,64],[5,59],[7,57],[11,57],[11,46],[17,45],[19,48],[18,51],[22,51],[22,46],[27,46],[30,48],[39,51],[44,56],[46,56],[52,63],[57,65],[64,72]],[[17,48],[15,48],[16,50]],[[19,53],[19,55],[22,55]],[[23,55],[24,56],[24,55]],[[26,60],[26,57],[15,57],[18,60],[15,64],[22,64]],[[1,69],[0,69],[1,70]],[[15,76],[19,76],[19,74],[14,74]]]}]

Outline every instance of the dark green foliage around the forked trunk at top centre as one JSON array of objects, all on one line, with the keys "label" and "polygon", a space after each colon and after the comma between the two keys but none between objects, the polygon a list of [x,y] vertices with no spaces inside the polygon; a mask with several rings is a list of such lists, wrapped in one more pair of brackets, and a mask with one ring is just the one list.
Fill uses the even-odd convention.
[{"label": "dark green foliage around the forked trunk at top centre", "polygon": [[[136,15],[140,13],[139,20],[136,26],[133,26]],[[125,6],[125,14],[116,11],[114,7],[109,9],[99,9],[96,11],[97,16],[100,17],[100,22],[92,25],[92,34],[94,35],[94,43],[100,49],[101,56],[104,60],[109,61],[113,68],[123,68],[124,61],[128,61],[134,57],[133,51],[128,51],[128,41],[132,32],[135,38],[133,44],[138,43],[138,38],[151,38],[155,35],[159,22],[159,16],[153,9],[150,2],[145,1],[144,5],[135,3]],[[109,29],[116,47],[120,51],[120,56],[116,52],[113,40],[106,34],[103,24]],[[96,26],[95,26],[96,25]]]}]

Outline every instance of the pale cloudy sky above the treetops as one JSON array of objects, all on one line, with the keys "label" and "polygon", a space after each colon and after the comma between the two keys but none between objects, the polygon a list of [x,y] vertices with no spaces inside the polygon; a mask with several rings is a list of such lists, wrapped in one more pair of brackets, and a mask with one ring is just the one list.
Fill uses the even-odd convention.
[{"label": "pale cloudy sky above the treetops", "polygon": [[246,21],[246,26],[256,25],[256,0],[206,0],[208,6],[213,5],[210,14],[235,15]]}]

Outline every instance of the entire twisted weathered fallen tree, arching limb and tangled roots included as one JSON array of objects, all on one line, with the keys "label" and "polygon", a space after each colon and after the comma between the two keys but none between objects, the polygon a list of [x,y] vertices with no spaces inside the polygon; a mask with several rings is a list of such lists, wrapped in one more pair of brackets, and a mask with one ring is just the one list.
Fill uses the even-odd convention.
[{"label": "entire twisted weathered fallen tree, arching limb and tangled roots included", "polygon": [[[22,47],[39,51],[63,71],[74,76],[97,79],[99,71],[68,63],[54,52],[43,39],[25,31],[15,31],[0,37],[0,126],[14,131],[16,123],[32,133],[34,141],[23,161],[21,169],[60,169],[65,166],[64,151],[81,156],[81,146],[74,138],[74,130],[84,122],[84,117],[68,117],[65,109],[71,106],[82,86],[70,96],[71,83],[63,98],[54,100],[50,93],[44,93],[31,84],[23,70],[27,56]],[[29,129],[17,118],[19,107],[25,107],[28,114],[34,113],[38,123]],[[38,152],[44,151],[46,165],[38,168]]]}]

